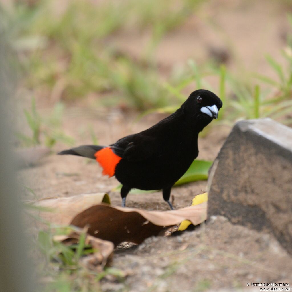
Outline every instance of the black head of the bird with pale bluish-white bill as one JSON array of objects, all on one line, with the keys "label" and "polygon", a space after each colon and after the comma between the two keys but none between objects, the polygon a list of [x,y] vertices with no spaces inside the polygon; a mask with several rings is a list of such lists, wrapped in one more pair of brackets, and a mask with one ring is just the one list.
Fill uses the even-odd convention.
[{"label": "black head of the bird with pale bluish-white bill", "polygon": [[207,125],[213,119],[218,118],[218,112],[222,107],[222,101],[213,92],[199,89],[191,93],[183,104],[183,107],[185,112]]}]

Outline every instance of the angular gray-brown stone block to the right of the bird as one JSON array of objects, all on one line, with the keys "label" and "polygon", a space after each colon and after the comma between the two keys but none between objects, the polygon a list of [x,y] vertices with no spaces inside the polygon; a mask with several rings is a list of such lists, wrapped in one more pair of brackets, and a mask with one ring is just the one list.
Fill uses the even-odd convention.
[{"label": "angular gray-brown stone block to the right of the bird", "polygon": [[208,217],[271,231],[292,253],[292,129],[271,119],[240,121],[210,170]]}]

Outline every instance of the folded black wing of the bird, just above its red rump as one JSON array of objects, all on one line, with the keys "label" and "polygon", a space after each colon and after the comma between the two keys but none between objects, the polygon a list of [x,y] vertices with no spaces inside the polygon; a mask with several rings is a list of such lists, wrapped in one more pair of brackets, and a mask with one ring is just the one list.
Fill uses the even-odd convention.
[{"label": "folded black wing of the bird, just above its red rump", "polygon": [[147,159],[159,149],[155,138],[140,133],[126,136],[110,146],[115,154],[128,161]]}]

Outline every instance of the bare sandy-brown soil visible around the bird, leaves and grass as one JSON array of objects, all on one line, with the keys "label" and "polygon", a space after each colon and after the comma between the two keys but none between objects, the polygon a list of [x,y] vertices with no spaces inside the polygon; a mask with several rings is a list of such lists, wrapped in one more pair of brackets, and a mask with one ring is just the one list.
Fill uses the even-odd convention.
[{"label": "bare sandy-brown soil visible around the bird, leaves and grass", "polygon": [[[194,15],[161,42],[156,56],[161,72],[166,72],[170,64],[180,65],[188,58],[199,62],[208,58],[208,48],[226,47],[228,37],[236,44],[233,49],[248,69],[271,73],[264,55],[270,53],[276,58],[280,55],[284,44],[281,35],[287,28],[283,20],[285,6],[276,5],[277,1],[217,2],[205,4],[199,15]],[[221,32],[225,31],[226,38],[211,29],[212,23]],[[137,44],[137,39],[135,34],[121,35],[121,49],[139,55],[141,43],[139,39]],[[119,45],[119,38],[116,40]],[[169,47],[173,49],[166,50]],[[234,58],[230,66],[236,63]],[[38,102],[44,111],[48,110],[48,102]],[[93,110],[93,105],[96,103],[88,97],[82,104],[76,102],[66,109],[63,130],[76,138],[77,145],[91,144],[88,125],[93,126],[100,145],[108,145],[148,128],[163,117],[150,115],[133,123],[136,113]],[[205,138],[199,138],[199,159],[215,159],[230,131],[225,126],[209,126],[209,129]],[[56,151],[63,149],[64,145],[55,148]],[[107,192],[113,205],[121,204],[119,193],[113,191],[118,181],[103,177],[97,163],[81,157],[50,155],[37,166],[22,169],[18,180],[32,188],[37,198]],[[206,181],[175,187],[173,205],[175,208],[189,206],[194,196],[205,191]],[[32,199],[29,192],[25,197]],[[127,206],[168,210],[161,192],[129,194]],[[272,235],[232,225],[224,217],[209,218],[203,226],[177,236],[149,238],[139,246],[121,245],[115,251],[112,266],[129,275],[121,283],[102,280],[103,291],[219,291],[224,287],[227,291],[237,291],[245,289],[247,282],[292,283],[291,256]]]}]

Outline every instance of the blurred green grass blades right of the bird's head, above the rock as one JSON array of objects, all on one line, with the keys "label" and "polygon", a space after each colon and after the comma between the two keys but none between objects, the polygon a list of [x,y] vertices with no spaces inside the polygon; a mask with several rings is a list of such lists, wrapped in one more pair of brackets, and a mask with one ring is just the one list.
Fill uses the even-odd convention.
[{"label": "blurred green grass blades right of the bird's head, above the rock", "polygon": [[[218,92],[223,101],[217,124],[232,125],[240,119],[257,119],[270,117],[284,124],[292,124],[292,47],[287,46],[283,55],[288,61],[287,68],[283,68],[271,56],[267,61],[277,73],[279,80],[259,74],[248,80],[241,79],[229,72],[225,65],[217,66],[213,63],[197,66],[193,60],[189,61],[190,73],[186,76],[186,83],[195,82],[195,89],[206,88]],[[218,88],[214,88],[205,80],[207,77],[215,77],[218,80]],[[259,84],[259,82],[261,84]],[[167,86],[168,91],[176,95],[178,100],[185,100],[180,86]],[[261,89],[263,88],[263,89]],[[158,112],[172,112],[177,107],[159,108]],[[214,123],[213,123],[214,124]]]}]

